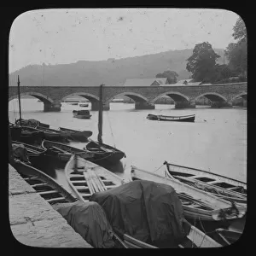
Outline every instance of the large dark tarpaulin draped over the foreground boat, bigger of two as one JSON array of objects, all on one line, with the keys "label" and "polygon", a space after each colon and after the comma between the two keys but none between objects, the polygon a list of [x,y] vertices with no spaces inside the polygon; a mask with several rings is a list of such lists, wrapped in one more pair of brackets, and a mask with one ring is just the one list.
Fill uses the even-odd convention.
[{"label": "large dark tarpaulin draped over the foreground boat, bigger of two", "polygon": [[183,230],[183,207],[175,190],[147,180],[125,183],[91,196],[105,210],[113,230],[122,236],[157,245],[178,241]]}]

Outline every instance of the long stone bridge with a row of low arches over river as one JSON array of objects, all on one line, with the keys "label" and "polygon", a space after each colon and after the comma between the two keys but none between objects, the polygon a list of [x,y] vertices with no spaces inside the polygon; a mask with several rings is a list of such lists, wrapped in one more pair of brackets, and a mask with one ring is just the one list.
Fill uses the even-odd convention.
[{"label": "long stone bridge with a row of low arches over river", "polygon": [[[34,96],[44,102],[44,111],[61,111],[61,102],[71,96],[83,96],[91,102],[91,110],[98,109],[100,87],[92,86],[20,86],[20,96]],[[17,86],[9,86],[9,101],[18,97]],[[103,86],[103,109],[109,109],[114,97],[128,96],[135,101],[136,109],[154,109],[154,102],[170,96],[175,108],[195,108],[195,101],[202,96],[212,102],[212,107],[232,106],[239,96],[247,100],[247,82],[211,85],[162,85],[162,86]]]}]

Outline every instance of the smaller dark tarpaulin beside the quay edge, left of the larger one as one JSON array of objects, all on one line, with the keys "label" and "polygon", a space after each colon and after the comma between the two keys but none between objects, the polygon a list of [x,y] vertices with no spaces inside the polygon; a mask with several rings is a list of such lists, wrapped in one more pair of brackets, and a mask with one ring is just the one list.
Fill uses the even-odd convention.
[{"label": "smaller dark tarpaulin beside the quay edge, left of the larger one", "polygon": [[113,230],[104,210],[96,202],[76,201],[55,204],[53,207],[92,247],[113,247]]}]

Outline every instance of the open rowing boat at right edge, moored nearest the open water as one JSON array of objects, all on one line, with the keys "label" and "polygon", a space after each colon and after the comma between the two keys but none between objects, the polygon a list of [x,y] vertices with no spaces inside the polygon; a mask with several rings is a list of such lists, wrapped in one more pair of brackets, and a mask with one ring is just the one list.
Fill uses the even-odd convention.
[{"label": "open rowing boat at right edge, moored nearest the open water", "polygon": [[165,175],[187,183],[197,189],[210,192],[220,198],[241,203],[247,202],[247,184],[234,178],[224,177],[187,166],[177,166],[165,161]]}]

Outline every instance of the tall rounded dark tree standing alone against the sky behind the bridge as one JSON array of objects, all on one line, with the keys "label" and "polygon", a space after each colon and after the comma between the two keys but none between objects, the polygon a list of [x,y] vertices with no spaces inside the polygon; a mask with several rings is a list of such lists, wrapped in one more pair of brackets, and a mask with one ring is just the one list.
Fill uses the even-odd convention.
[{"label": "tall rounded dark tree standing alone against the sky behind the bridge", "polygon": [[187,59],[186,67],[192,73],[192,79],[195,79],[195,81],[207,79],[211,75],[219,57],[208,42],[195,44],[193,54]]}]

